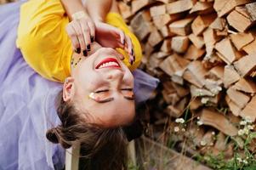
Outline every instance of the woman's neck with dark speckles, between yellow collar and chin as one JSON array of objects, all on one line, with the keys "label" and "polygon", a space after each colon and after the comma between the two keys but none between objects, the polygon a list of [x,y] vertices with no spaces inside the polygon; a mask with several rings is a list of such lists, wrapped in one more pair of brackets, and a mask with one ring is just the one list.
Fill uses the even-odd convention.
[{"label": "woman's neck with dark speckles, between yellow collar and chin", "polygon": [[83,60],[90,57],[91,54],[94,54],[99,48],[102,48],[100,43],[93,42],[91,43],[91,51],[88,51],[88,56],[84,56],[82,52],[80,54],[73,53],[71,57],[71,72],[76,68],[77,65]]}]

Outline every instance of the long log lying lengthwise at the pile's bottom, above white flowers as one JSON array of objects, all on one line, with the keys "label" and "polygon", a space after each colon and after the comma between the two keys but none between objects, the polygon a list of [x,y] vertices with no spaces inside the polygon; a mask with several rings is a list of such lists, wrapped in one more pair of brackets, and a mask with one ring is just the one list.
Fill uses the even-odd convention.
[{"label": "long log lying lengthwise at the pile's bottom, above white flowers", "polygon": [[233,126],[225,116],[219,114],[216,111],[211,111],[208,109],[203,109],[201,112],[200,121],[204,125],[209,125],[219,129],[220,132],[225,133],[229,136],[237,135],[237,128]]}]

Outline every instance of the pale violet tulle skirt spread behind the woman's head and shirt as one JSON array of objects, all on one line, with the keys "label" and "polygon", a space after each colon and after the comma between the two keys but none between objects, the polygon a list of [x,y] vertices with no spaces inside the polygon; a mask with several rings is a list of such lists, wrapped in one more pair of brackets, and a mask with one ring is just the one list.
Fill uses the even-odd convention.
[{"label": "pale violet tulle skirt spread behind the woman's head and shirt", "polygon": [[[65,150],[45,137],[60,123],[54,99],[61,84],[40,77],[15,46],[22,3],[0,6],[0,170],[62,169]],[[159,82],[139,70],[134,80],[137,104]]]}]

